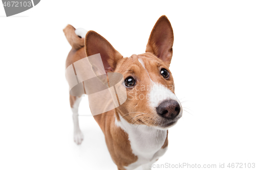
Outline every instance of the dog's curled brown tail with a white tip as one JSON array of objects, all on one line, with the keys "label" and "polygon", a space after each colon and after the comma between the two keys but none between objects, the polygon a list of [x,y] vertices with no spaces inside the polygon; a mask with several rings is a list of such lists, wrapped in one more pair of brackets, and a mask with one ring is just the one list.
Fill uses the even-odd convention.
[{"label": "dog's curled brown tail with a white tip", "polygon": [[86,30],[82,28],[75,29],[73,26],[68,25],[65,29],[63,29],[63,32],[72,48],[79,50],[84,46],[84,38],[86,37],[87,33]]}]

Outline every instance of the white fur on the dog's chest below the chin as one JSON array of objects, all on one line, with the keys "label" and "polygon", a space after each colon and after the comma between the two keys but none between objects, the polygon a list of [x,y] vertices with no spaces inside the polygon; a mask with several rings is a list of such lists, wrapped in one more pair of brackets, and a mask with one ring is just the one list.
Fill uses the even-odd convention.
[{"label": "white fur on the dog's chest below the chin", "polygon": [[167,130],[158,130],[145,125],[134,126],[124,119],[121,119],[120,122],[116,120],[116,125],[128,134],[133,154],[138,157],[138,160],[126,169],[155,162],[167,150],[167,148],[162,149],[167,137]]}]

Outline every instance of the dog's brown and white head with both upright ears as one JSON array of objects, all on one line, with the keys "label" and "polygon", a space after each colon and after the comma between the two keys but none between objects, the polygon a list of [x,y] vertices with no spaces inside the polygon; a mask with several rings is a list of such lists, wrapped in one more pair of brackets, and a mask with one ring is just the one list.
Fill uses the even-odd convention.
[{"label": "dog's brown and white head with both upright ears", "polygon": [[182,116],[181,103],[174,92],[174,80],[169,65],[173,56],[173,29],[166,16],[156,22],[146,53],[123,56],[94,31],[86,35],[86,54],[100,53],[106,72],[123,75],[127,100],[117,109],[118,120],[165,129]]}]

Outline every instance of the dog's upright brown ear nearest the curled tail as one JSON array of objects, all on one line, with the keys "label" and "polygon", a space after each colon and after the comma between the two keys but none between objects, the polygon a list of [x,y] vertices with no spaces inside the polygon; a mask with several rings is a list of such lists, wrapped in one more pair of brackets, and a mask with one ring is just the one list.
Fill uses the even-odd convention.
[{"label": "dog's upright brown ear nearest the curled tail", "polygon": [[114,71],[118,60],[123,56],[115,50],[108,40],[96,33],[89,31],[86,34],[86,55],[100,54],[105,72]]}]

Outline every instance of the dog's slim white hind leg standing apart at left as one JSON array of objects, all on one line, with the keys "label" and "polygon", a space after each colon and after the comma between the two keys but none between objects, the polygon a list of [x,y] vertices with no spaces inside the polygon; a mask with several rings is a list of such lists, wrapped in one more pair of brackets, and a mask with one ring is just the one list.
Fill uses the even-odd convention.
[{"label": "dog's slim white hind leg standing apart at left", "polygon": [[74,123],[74,141],[76,144],[81,144],[83,140],[83,134],[79,127],[78,121],[78,107],[81,102],[81,97],[75,97],[70,95],[70,106],[73,112],[73,123]]}]

